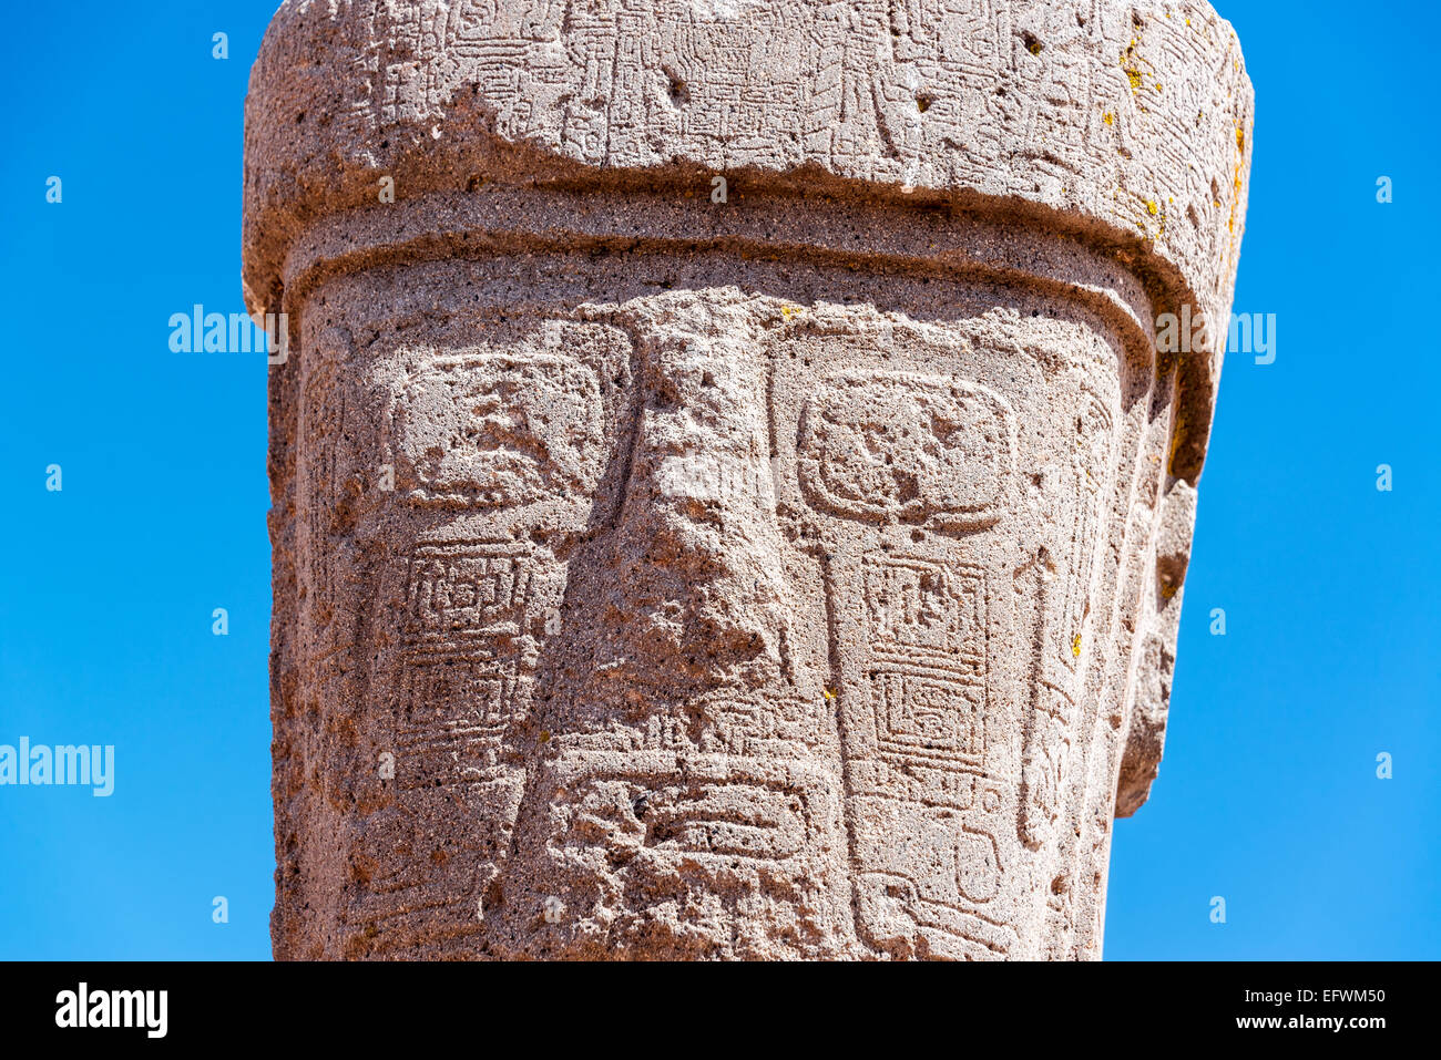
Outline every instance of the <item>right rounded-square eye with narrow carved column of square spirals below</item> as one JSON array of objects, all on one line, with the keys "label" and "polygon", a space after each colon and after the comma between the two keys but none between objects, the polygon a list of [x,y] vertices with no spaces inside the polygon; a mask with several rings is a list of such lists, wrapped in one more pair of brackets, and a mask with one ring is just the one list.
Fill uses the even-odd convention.
[{"label": "right rounded-square eye with narrow carved column of square spirals below", "polygon": [[1016,431],[1010,403],[964,377],[860,369],[813,385],[795,428],[800,497],[833,543],[856,930],[895,955],[1017,943],[999,567],[974,542],[1013,503]]}]

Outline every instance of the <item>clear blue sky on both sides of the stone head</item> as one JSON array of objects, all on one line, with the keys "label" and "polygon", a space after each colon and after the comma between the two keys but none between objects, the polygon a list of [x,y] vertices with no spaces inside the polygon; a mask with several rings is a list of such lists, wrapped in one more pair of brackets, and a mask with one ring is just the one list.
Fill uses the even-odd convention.
[{"label": "clear blue sky on both sides of the stone head", "polygon": [[[115,745],[117,779],[0,788],[0,958],[269,956],[265,364],[174,354],[167,320],[244,308],[242,102],[274,6],[6,23],[0,743]],[[1107,956],[1435,959],[1434,0],[1218,7],[1257,88],[1235,310],[1277,314],[1277,359],[1222,379],[1166,760],[1117,825]]]}]

